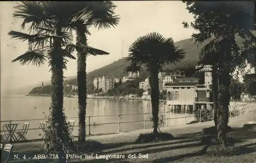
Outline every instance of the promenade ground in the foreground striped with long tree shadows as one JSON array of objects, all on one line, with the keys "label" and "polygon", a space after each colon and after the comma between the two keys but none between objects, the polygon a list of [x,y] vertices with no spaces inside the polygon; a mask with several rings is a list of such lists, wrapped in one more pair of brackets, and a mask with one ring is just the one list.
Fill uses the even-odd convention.
[{"label": "promenade ground in the foreground striped with long tree shadows", "polygon": [[[103,150],[99,155],[124,155],[124,158],[99,159],[96,154],[93,158],[74,159],[73,162],[256,162],[256,131],[242,126],[254,121],[255,112],[249,112],[240,117],[231,118],[229,126],[233,128],[228,133],[229,137],[238,140],[236,146],[243,146],[247,150],[242,150],[237,155],[224,156],[207,156],[204,153],[205,145],[201,143],[202,128],[210,127],[213,122],[204,122],[200,124],[189,124],[175,127],[164,127],[163,132],[174,135],[173,140],[156,141],[153,143],[135,144],[140,133],[149,133],[152,129],[137,130],[127,133],[118,133],[111,135],[101,135],[89,137],[103,144]],[[38,153],[40,142],[14,144],[14,154],[32,157]],[[130,154],[130,155],[129,155]],[[135,158],[128,158],[136,155]],[[141,154],[144,158],[139,158]],[[11,157],[13,158],[13,157]],[[18,161],[18,160],[15,160]],[[20,160],[22,161],[22,160]],[[25,162],[24,160],[22,162]],[[47,160],[46,160],[47,162]],[[48,161],[49,162],[49,161]]]}]

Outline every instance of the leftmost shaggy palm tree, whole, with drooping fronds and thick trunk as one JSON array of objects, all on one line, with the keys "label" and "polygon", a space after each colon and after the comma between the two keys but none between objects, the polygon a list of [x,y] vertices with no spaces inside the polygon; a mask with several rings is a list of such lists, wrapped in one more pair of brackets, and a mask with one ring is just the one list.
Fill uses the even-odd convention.
[{"label": "leftmost shaggy palm tree, whole, with drooping fronds and thick trunk", "polygon": [[[67,11],[70,2],[22,2],[16,7],[17,11],[13,16],[23,18],[22,29],[30,23],[29,32],[33,35],[11,31],[9,35],[22,41],[29,42],[29,51],[17,57],[12,62],[19,61],[22,65],[33,64],[42,65],[49,60],[52,77],[52,113],[51,125],[56,130],[56,135],[52,135],[52,143],[59,151],[60,161],[65,161],[65,151],[63,151],[57,140],[62,142],[68,137],[68,126],[63,114],[63,69],[66,69],[67,60],[75,59],[66,47],[71,44],[72,37],[67,31],[69,15],[80,17],[77,11]],[[86,13],[82,13],[86,14]],[[70,138],[68,138],[70,139]],[[63,159],[62,159],[63,158]]]}]

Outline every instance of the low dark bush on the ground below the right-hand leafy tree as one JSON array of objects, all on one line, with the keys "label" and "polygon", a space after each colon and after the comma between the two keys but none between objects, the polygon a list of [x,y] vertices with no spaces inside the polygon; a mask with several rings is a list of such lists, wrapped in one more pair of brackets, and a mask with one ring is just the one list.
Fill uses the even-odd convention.
[{"label": "low dark bush on the ground below the right-hand leafy tree", "polygon": [[243,146],[227,146],[224,147],[222,145],[209,146],[205,154],[209,156],[233,156],[244,153],[247,150],[246,147]]}]

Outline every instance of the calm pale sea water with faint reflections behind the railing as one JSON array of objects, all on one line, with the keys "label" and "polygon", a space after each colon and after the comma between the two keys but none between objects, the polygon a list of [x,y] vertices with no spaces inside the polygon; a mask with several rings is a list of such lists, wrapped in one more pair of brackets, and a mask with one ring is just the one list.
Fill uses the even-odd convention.
[{"label": "calm pale sea water with faint reflections behind the railing", "polygon": [[[29,128],[39,128],[39,121],[28,121],[31,119],[43,119],[45,118],[45,112],[49,114],[49,106],[51,103],[51,97],[36,97],[36,96],[3,96],[1,97],[1,121],[9,120],[25,120],[18,121],[18,128],[23,127],[24,122],[30,122]],[[78,125],[78,99],[77,98],[64,98],[65,114],[68,120],[75,120],[75,125]],[[165,106],[166,107],[166,106]],[[109,99],[88,99],[87,100],[87,116],[90,117],[90,130],[92,134],[98,133],[110,133],[118,131],[118,122],[120,114],[120,130],[131,131],[144,128],[145,113],[151,113],[150,101],[139,100],[109,100]],[[163,106],[160,108],[160,112],[163,112]],[[133,114],[133,115],[127,115]],[[159,117],[163,113],[159,113]],[[151,114],[146,114],[146,128],[152,128],[152,122],[150,122]],[[164,119],[168,116],[168,126],[183,125],[191,121],[196,120],[192,114],[169,112],[164,113]],[[189,117],[193,116],[193,117]],[[180,117],[180,118],[179,118]],[[176,119],[170,119],[176,118]],[[125,123],[132,121],[141,121],[133,123]],[[3,125],[8,122],[1,122],[1,130]],[[14,123],[14,122],[13,122]],[[113,123],[113,124],[102,124]],[[166,120],[164,120],[166,126]],[[89,118],[86,118],[86,124],[89,124]],[[28,139],[39,139],[43,134],[40,129],[29,130],[27,134]],[[87,126],[87,133],[89,133],[89,127]],[[73,131],[74,135],[78,134],[78,128],[75,127]]]}]

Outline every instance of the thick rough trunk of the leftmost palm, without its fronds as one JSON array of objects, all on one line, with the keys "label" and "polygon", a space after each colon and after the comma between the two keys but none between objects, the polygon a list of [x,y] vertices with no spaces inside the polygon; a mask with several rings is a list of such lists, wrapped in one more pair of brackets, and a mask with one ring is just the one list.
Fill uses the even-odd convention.
[{"label": "thick rough trunk of the leftmost palm, without its fronds", "polygon": [[[56,28],[57,36],[61,36],[61,28]],[[62,150],[57,140],[63,140],[68,134],[68,129],[65,127],[66,119],[63,116],[63,55],[61,43],[58,39],[54,39],[53,42],[53,55],[52,55],[52,125],[53,129],[56,131],[56,135],[53,135],[53,144],[57,147],[59,151],[59,160],[64,162],[66,161],[65,151]],[[63,157],[63,158],[62,158]]]}]

